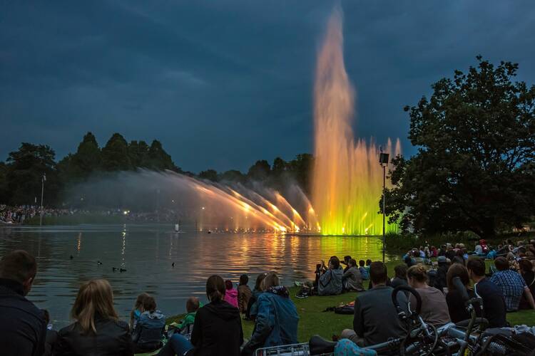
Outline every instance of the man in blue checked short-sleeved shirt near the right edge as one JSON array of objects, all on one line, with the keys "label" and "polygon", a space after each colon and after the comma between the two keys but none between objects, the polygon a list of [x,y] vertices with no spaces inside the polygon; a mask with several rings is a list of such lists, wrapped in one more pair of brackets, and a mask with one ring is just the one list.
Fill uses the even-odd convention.
[{"label": "man in blue checked short-sleeved shirt near the right edge", "polygon": [[531,309],[535,309],[533,295],[531,295],[531,291],[526,286],[524,278],[520,276],[520,273],[509,269],[509,262],[506,258],[496,258],[494,260],[494,266],[496,266],[497,271],[491,276],[490,281],[501,288],[507,311],[519,310],[520,300],[523,294],[525,294]]}]

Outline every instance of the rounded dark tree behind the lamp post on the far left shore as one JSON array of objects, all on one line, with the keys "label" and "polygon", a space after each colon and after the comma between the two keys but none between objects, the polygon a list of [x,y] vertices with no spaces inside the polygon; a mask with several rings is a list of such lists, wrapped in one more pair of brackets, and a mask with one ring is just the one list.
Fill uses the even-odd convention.
[{"label": "rounded dark tree behind the lamp post on the far left shore", "polygon": [[46,174],[44,200],[53,205],[61,188],[54,162],[56,154],[47,145],[23,142],[18,151],[10,152],[7,159],[7,185],[12,204],[41,203],[41,177]]}]

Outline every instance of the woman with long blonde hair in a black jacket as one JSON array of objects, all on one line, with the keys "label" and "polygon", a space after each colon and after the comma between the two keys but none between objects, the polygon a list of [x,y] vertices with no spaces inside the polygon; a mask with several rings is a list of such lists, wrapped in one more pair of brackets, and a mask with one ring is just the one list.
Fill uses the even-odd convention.
[{"label": "woman with long blonde hair in a black jacket", "polygon": [[131,356],[128,324],[118,320],[113,293],[105,279],[83,283],[71,309],[75,323],[59,330],[56,356]]}]

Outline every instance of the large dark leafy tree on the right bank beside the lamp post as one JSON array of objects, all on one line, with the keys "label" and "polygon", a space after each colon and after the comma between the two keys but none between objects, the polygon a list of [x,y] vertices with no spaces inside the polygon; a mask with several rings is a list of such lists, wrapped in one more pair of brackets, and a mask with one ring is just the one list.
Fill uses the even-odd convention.
[{"label": "large dark leafy tree on the right bank beside the lamp post", "polygon": [[404,229],[489,237],[534,214],[535,87],[511,82],[515,63],[477,60],[405,108],[418,153],[393,159],[387,191],[389,219]]}]

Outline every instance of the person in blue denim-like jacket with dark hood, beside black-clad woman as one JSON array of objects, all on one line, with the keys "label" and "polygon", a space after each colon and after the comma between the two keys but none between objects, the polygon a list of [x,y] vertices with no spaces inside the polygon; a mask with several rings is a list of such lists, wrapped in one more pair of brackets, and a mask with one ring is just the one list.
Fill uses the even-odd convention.
[{"label": "person in blue denim-like jacket with dark hood, beside black-clad woman", "polygon": [[[340,270],[341,271],[341,270]],[[297,308],[290,300],[290,292],[280,286],[277,273],[270,272],[262,282],[264,293],[258,297],[258,314],[249,342],[242,356],[253,355],[260,347],[297,343]]]}]

